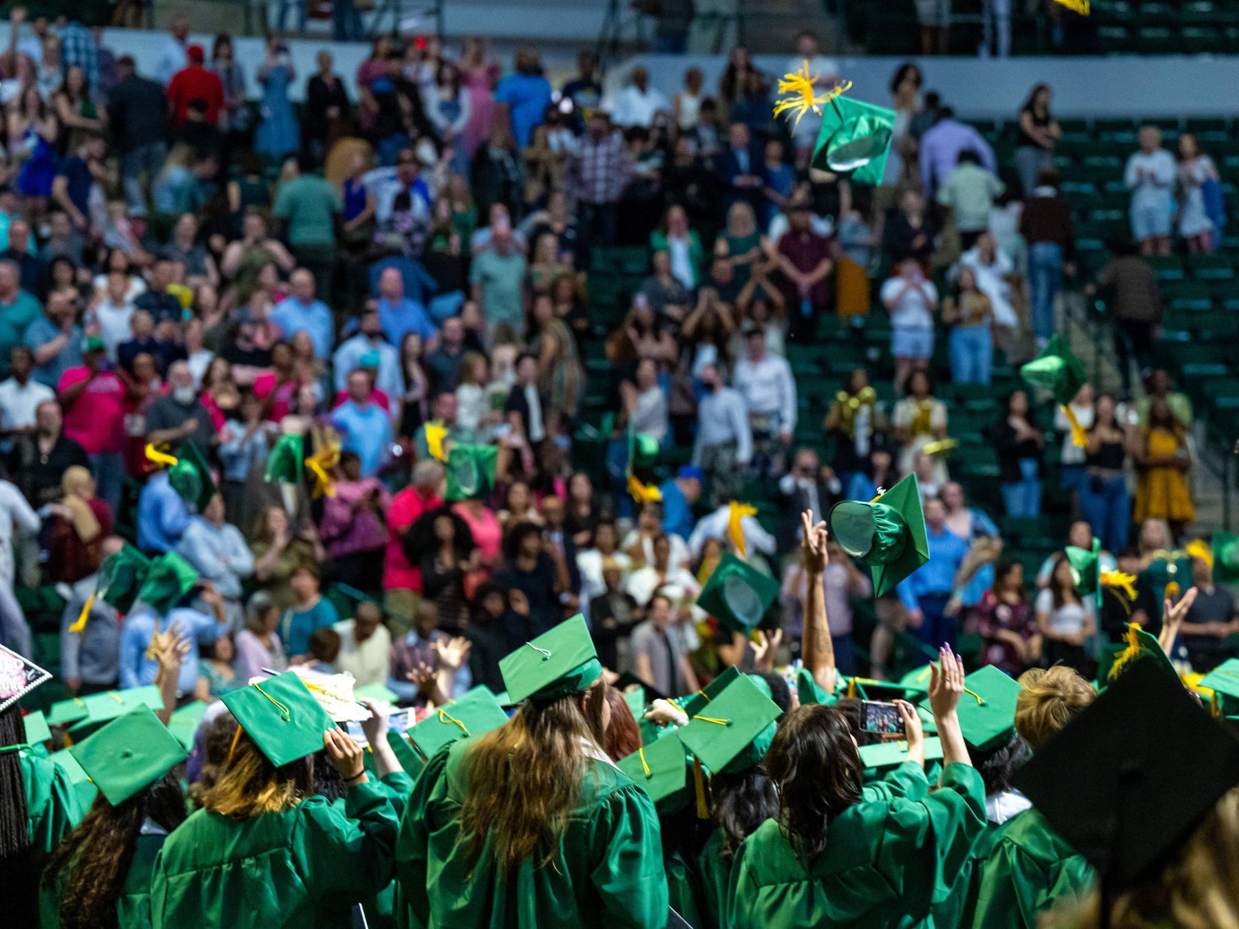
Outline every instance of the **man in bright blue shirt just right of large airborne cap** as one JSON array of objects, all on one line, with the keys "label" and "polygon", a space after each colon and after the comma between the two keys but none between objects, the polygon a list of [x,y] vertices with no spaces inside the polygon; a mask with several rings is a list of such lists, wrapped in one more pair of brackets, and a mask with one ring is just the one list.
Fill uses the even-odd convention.
[{"label": "man in bright blue shirt just right of large airborne cap", "polygon": [[[947,507],[937,497],[924,502],[924,512],[929,560],[908,575],[897,590],[917,638],[930,648],[943,643],[954,648],[959,633],[955,572],[968,554],[968,540],[947,526]],[[917,664],[927,660],[924,654],[917,656]]]}]

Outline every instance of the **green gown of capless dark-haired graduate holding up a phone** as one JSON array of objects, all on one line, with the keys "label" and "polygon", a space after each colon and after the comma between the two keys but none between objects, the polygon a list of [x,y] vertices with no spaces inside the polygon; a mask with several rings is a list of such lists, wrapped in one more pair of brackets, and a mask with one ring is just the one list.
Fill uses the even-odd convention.
[{"label": "green gown of capless dark-haired graduate holding up a phone", "polygon": [[[914,782],[916,765],[902,767]],[[732,866],[731,927],[933,927],[929,907],[950,893],[959,862],[984,829],[985,785],[966,764],[948,764],[940,789],[922,799],[845,810],[808,867],[778,822],[767,820]]]}]

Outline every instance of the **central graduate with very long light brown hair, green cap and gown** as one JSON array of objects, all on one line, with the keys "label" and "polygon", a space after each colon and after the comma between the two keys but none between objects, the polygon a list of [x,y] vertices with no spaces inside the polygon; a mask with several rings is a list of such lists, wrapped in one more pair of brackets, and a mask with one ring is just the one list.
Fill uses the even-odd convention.
[{"label": "central graduate with very long light brown hair, green cap and gown", "polygon": [[408,922],[662,929],[658,815],[601,748],[607,684],[585,619],[499,670],[515,715],[432,754],[405,808],[395,868]]}]

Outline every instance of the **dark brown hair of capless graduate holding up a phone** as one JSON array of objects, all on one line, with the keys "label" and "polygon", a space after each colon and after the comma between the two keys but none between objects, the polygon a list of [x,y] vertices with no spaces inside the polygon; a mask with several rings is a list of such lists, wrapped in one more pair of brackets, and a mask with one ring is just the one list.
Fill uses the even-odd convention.
[{"label": "dark brown hair of capless graduate holding up a phone", "polygon": [[805,861],[826,847],[826,827],[860,801],[860,753],[847,717],[833,706],[800,706],[783,717],[766,770],[778,785],[778,819]]}]

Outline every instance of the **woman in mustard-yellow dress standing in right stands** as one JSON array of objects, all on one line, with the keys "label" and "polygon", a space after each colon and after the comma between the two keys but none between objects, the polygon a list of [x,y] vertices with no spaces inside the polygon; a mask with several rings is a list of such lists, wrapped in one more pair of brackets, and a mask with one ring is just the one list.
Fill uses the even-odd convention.
[{"label": "woman in mustard-yellow dress standing in right stands", "polygon": [[1131,453],[1139,474],[1135,521],[1165,519],[1180,538],[1183,526],[1196,518],[1187,487],[1192,456],[1183,429],[1165,400],[1155,400],[1149,408],[1149,425],[1137,434]]}]

